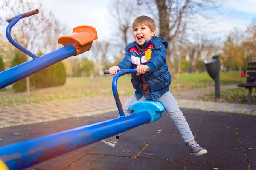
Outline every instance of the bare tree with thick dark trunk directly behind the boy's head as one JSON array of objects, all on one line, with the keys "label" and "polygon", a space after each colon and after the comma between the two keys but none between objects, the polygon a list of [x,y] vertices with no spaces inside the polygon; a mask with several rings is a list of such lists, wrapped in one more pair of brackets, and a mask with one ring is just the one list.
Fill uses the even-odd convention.
[{"label": "bare tree with thick dark trunk directly behind the boy's head", "polygon": [[[204,11],[218,8],[219,0],[138,0],[141,4],[147,5],[148,11],[157,19],[159,25],[159,36],[169,41],[170,44],[179,43],[183,29],[201,31],[197,18],[207,18]],[[179,38],[177,38],[179,37]],[[172,41],[177,40],[172,43]],[[173,48],[170,45],[169,48]],[[166,62],[171,66],[171,50],[168,49]],[[168,59],[169,58],[169,59]],[[170,68],[170,67],[169,67]],[[170,70],[171,71],[171,70]]]}]

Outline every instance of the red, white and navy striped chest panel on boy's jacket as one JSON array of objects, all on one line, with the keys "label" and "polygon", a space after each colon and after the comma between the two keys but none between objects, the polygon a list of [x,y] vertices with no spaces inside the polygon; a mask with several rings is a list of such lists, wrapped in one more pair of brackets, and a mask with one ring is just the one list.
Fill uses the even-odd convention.
[{"label": "red, white and navy striped chest panel on boy's jacket", "polygon": [[[150,57],[152,51],[154,51],[154,45],[149,44],[148,47],[144,48],[143,51],[140,51],[137,47],[130,48],[131,53],[131,63],[134,65],[145,64],[148,62],[150,57],[146,57],[145,54],[150,51]],[[148,53],[149,54],[149,53]]]}]

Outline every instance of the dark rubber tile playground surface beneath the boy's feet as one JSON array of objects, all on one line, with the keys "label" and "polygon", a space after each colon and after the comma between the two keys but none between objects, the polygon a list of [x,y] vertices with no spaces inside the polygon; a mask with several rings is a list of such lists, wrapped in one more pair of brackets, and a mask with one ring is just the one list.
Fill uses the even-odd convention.
[{"label": "dark rubber tile playground surface beneath the boy's feet", "polygon": [[[181,109],[208,153],[189,156],[166,112],[122,134],[116,147],[96,142],[26,170],[256,170],[256,116]],[[0,129],[0,146],[116,118],[117,111]]]}]

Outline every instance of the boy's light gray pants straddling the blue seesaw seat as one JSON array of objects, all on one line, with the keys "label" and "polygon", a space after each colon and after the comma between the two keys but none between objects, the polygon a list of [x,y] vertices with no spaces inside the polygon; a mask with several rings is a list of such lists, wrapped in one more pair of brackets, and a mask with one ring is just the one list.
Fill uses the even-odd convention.
[{"label": "boy's light gray pants straddling the blue seesaw seat", "polygon": [[[137,100],[135,95],[133,94],[125,103],[123,107],[123,111],[125,113],[125,116],[130,115],[133,111],[130,110],[130,106],[138,101],[143,100],[152,100],[152,97],[150,95],[144,94],[141,99]],[[181,137],[183,138],[184,142],[189,142],[194,140],[194,136],[189,128],[189,125],[183,116],[183,113],[180,111],[180,108],[177,105],[177,102],[175,101],[174,97],[172,96],[172,93],[170,91],[163,94],[161,97],[157,99],[157,101],[161,102],[163,106],[165,107],[169,117],[172,119],[172,121],[175,123],[176,127],[178,128]],[[121,135],[120,133],[119,135]]]}]

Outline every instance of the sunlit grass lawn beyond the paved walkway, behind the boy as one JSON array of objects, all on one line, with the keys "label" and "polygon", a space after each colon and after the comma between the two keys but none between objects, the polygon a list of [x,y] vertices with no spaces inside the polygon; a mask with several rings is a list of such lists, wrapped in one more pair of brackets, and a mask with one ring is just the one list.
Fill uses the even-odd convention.
[{"label": "sunlit grass lawn beyond the paved walkway, behind the boy", "polygon": [[[15,93],[11,85],[0,91],[0,107],[24,105],[30,103],[50,102],[66,99],[83,99],[88,96],[103,96],[112,94],[112,75],[104,77],[70,77],[61,87],[52,87],[44,89],[31,89],[31,95],[26,92]],[[180,74],[180,81],[177,83],[177,75],[172,80],[170,89],[172,92],[187,91],[196,88],[214,86],[214,81],[207,73],[200,74]],[[239,72],[220,74],[221,85],[229,83],[243,82]],[[131,75],[125,75],[119,78],[117,89],[120,96],[131,96],[134,88],[131,86]]]}]

